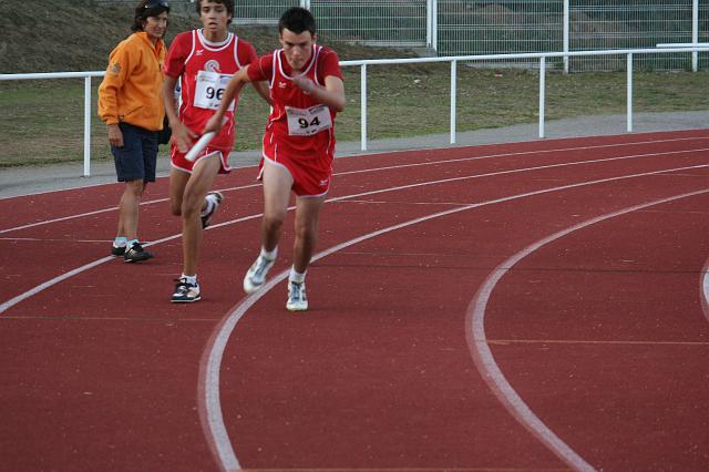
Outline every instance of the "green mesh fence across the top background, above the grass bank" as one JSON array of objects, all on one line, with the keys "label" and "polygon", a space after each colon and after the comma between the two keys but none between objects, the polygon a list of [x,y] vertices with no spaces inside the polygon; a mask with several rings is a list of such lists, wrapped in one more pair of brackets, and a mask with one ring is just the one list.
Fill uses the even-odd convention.
[{"label": "green mesh fence across the top background, above the grass bank", "polygon": [[[183,9],[187,4],[194,8],[192,0],[171,2]],[[309,8],[328,39],[428,47],[438,55],[654,48],[658,43],[709,41],[709,0],[239,0],[234,21],[275,24],[292,6]],[[697,58],[697,66],[706,70],[709,54]],[[559,59],[549,66],[563,64]],[[636,64],[641,70],[687,70],[693,65],[691,53],[648,55]],[[623,58],[568,61],[571,71],[625,66]]]}]

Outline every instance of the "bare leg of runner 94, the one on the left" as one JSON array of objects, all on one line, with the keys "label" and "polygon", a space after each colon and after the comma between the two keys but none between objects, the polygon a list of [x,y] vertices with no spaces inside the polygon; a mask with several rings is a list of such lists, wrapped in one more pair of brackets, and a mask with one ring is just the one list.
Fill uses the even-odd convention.
[{"label": "bare leg of runner 94, the one on the left", "polygon": [[261,220],[261,245],[270,252],[278,246],[284,220],[288,212],[292,177],[285,167],[264,162],[264,218]]}]

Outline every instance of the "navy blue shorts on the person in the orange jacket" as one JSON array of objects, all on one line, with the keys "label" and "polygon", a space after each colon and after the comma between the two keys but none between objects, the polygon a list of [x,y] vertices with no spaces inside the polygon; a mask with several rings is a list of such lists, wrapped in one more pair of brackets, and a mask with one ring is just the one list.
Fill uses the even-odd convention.
[{"label": "navy blue shorts on the person in the orange jacket", "polygon": [[119,123],[123,147],[111,146],[119,182],[155,182],[157,132],[127,123]]}]

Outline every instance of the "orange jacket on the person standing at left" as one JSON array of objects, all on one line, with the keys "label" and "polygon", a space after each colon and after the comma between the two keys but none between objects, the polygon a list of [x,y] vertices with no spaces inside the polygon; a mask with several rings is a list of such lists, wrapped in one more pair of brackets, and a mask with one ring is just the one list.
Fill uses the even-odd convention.
[{"label": "orange jacket on the person standing at left", "polygon": [[99,88],[99,116],[106,124],[130,123],[150,131],[163,129],[163,62],[165,43],[155,47],[140,31],[111,51]]}]

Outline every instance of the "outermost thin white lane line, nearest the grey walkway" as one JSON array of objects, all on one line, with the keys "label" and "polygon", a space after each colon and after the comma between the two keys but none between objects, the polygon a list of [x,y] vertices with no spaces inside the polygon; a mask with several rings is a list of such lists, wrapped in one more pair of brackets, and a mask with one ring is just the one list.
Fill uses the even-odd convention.
[{"label": "outermost thin white lane line, nearest the grey walkway", "polygon": [[[359,171],[340,172],[340,173],[335,173],[333,176],[349,175],[349,174],[361,174],[361,173],[370,173],[370,172],[382,172],[382,171],[391,171],[391,170],[394,170],[394,168],[418,167],[418,166],[423,166],[423,165],[451,164],[451,163],[456,163],[456,162],[477,161],[477,160],[486,160],[486,158],[499,158],[499,157],[534,155],[534,154],[548,154],[548,153],[556,153],[556,152],[588,151],[588,150],[607,148],[607,147],[621,147],[621,146],[629,146],[629,145],[635,145],[635,144],[644,145],[644,144],[657,144],[657,143],[672,143],[672,142],[681,142],[681,141],[696,141],[696,140],[709,140],[709,136],[708,137],[692,137],[692,138],[682,137],[682,138],[674,138],[674,140],[643,141],[643,142],[638,142],[638,143],[619,143],[619,144],[600,144],[600,145],[578,146],[578,147],[559,147],[559,148],[541,150],[541,151],[520,151],[520,152],[500,153],[500,154],[484,154],[484,155],[481,155],[481,156],[473,156],[473,157],[461,157],[461,158],[454,158],[454,160],[432,161],[432,162],[414,163],[414,164],[398,164],[398,165],[393,165],[393,166],[381,166],[381,167],[363,168],[363,170],[359,170]],[[428,151],[436,151],[436,150],[428,150]],[[674,151],[674,152],[669,152],[669,153],[637,154],[637,155],[627,156],[627,157],[624,157],[624,158],[649,157],[649,156],[658,156],[658,155],[665,155],[665,154],[685,153],[685,152],[693,152],[693,151],[707,151],[707,150],[706,148],[697,148],[697,150],[686,150],[686,151]],[[389,154],[389,153],[387,153],[387,154]],[[394,154],[394,153],[392,153],[392,154]],[[598,160],[598,162],[615,161],[615,160],[617,160],[617,157]],[[594,162],[596,162],[596,161],[594,161]],[[587,162],[585,162],[585,163],[587,163]],[[574,164],[574,163],[569,163],[569,164]],[[261,185],[260,183],[259,184],[250,184],[250,185],[243,185],[243,186],[238,186],[238,187],[220,188],[220,191],[222,192],[232,192],[232,191],[238,191],[238,189],[245,189],[245,188],[259,187],[260,185]],[[152,199],[152,201],[147,201],[147,202],[142,202],[141,205],[153,205],[153,204],[156,204],[156,203],[167,202],[167,199],[168,198]],[[117,207],[112,206],[110,208],[102,208],[102,209],[97,209],[97,211],[94,211],[94,212],[86,212],[86,213],[81,213],[81,214],[76,214],[76,215],[68,215],[68,216],[63,216],[63,217],[60,217],[60,218],[53,218],[53,219],[47,219],[47,220],[30,223],[30,224],[22,225],[22,226],[16,226],[16,227],[12,227],[12,228],[0,229],[0,234],[9,233],[9,232],[17,232],[17,230],[20,230],[20,229],[32,228],[32,227],[35,227],[35,226],[49,225],[49,224],[52,224],[52,223],[64,222],[64,220],[68,220],[68,219],[73,219],[73,218],[82,218],[82,217],[85,217],[85,216],[99,215],[101,213],[114,212],[116,209],[117,209]]]}]

